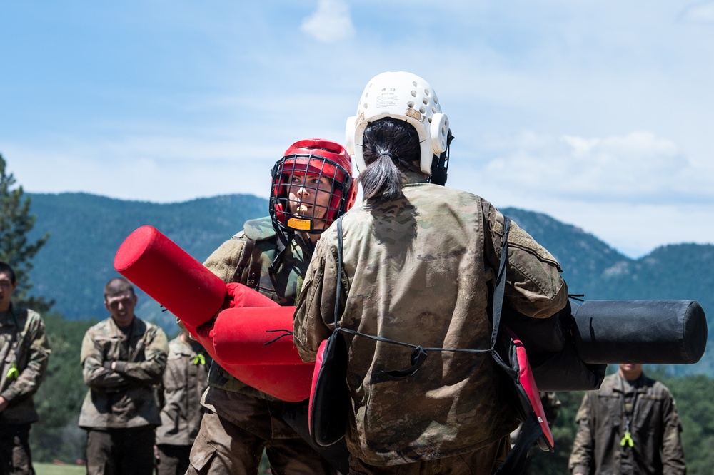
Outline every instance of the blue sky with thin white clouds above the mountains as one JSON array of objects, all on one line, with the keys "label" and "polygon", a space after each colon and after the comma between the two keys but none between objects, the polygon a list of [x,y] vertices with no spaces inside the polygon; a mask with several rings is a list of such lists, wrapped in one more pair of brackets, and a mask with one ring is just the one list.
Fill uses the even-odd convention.
[{"label": "blue sky with thin white clouds above the mountains", "polygon": [[267,197],[288,145],[343,143],[367,81],[410,71],[456,136],[448,186],[630,257],[714,243],[714,1],[0,0],[0,31],[29,192]]}]

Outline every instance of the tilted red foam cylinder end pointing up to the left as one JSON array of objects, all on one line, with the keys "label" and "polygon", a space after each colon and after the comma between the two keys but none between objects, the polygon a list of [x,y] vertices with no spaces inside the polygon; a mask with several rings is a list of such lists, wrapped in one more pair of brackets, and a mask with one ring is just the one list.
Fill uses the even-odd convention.
[{"label": "tilted red foam cylinder end pointing up to the left", "polygon": [[114,269],[193,327],[211,320],[226,300],[218,276],[151,226],[126,237]]}]

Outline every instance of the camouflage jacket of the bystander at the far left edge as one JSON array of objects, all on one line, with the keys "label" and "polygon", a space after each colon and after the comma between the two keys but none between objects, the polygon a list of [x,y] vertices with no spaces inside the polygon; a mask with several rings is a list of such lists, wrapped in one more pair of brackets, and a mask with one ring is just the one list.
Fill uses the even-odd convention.
[{"label": "camouflage jacket of the bystander at the far left edge", "polygon": [[0,424],[37,421],[33,395],[44,379],[49,354],[44,322],[37,312],[11,305],[0,313],[0,396],[9,403],[0,412]]}]

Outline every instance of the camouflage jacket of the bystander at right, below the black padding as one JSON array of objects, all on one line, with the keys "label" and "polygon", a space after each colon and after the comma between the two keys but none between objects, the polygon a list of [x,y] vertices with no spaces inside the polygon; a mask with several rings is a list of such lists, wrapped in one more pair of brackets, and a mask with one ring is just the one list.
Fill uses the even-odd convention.
[{"label": "camouflage jacket of the bystander at right, below the black padding", "polygon": [[[625,396],[634,399],[632,447],[620,445],[628,412]],[[573,474],[686,473],[675,400],[667,387],[644,374],[634,384],[619,372],[605,377],[598,391],[585,393],[576,419],[578,432],[568,464]]]}]

